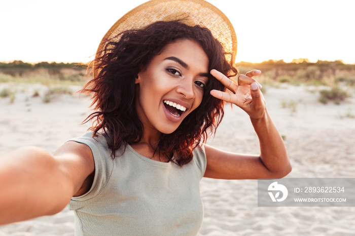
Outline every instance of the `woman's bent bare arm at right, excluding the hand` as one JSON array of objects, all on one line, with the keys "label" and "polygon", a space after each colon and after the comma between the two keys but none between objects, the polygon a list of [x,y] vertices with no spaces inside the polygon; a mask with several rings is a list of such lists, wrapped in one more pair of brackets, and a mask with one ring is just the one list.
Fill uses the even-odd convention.
[{"label": "woman's bent bare arm at right, excluding the hand", "polygon": [[270,117],[252,121],[260,142],[260,155],[226,152],[206,145],[205,177],[217,179],[281,178],[291,171],[285,145]]}]

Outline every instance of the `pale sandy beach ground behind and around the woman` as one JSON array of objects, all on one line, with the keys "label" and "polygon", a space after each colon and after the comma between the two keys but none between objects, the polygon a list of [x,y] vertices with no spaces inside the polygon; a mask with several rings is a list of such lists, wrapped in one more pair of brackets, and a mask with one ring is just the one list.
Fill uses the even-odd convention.
[{"label": "pale sandy beach ground behind and around the woman", "polygon": [[[0,86],[7,86],[0,85]],[[18,85],[13,103],[0,98],[0,154],[25,145],[50,153],[66,140],[81,136],[89,124],[88,97],[57,95],[49,103],[32,97],[42,85]],[[79,87],[72,87],[77,91]],[[317,87],[268,87],[267,109],[284,137],[293,167],[287,176],[355,177],[355,93],[336,105],[318,102]],[[226,105],[216,137],[218,148],[259,153],[247,115]],[[199,235],[354,235],[355,207],[258,207],[257,180],[203,178],[204,221]],[[1,214],[1,213],[0,213]],[[19,214],[21,214],[19,212]],[[74,213],[53,215],[0,226],[0,236],[74,235]]]}]

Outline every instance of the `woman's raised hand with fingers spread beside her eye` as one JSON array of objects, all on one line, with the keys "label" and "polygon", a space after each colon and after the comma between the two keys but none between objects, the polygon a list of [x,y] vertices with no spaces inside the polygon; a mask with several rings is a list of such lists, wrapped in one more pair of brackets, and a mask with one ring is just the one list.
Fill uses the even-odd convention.
[{"label": "woman's raised hand with fingers spread beside her eye", "polygon": [[261,73],[260,70],[252,70],[245,75],[238,76],[238,84],[218,70],[210,71],[232,93],[212,90],[210,94],[226,102],[231,102],[243,109],[251,119],[260,119],[265,114],[265,99],[261,93],[261,85],[253,78]]}]

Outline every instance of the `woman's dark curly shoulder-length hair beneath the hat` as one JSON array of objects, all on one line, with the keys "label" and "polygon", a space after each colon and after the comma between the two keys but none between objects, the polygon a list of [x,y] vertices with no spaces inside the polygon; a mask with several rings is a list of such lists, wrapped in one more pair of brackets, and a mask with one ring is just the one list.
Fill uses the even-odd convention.
[{"label": "woman's dark curly shoulder-length hair beneath the hat", "polygon": [[[134,80],[141,68],[149,64],[169,43],[187,38],[201,45],[209,59],[209,70],[217,69],[228,77],[237,69],[226,60],[220,42],[209,29],[189,26],[181,21],[158,21],[143,29],[121,32],[111,39],[91,63],[93,79],[83,93],[92,93],[91,106],[96,110],[84,122],[94,120],[94,136],[102,130],[115,158],[121,145],[137,143],[143,138],[143,125],[135,109]],[[208,78],[201,104],[171,134],[162,134],[157,150],[183,166],[192,158],[192,150],[214,134],[224,115],[224,102],[209,94],[212,89],[226,88],[212,75]],[[96,120],[95,120],[96,119]]]}]

